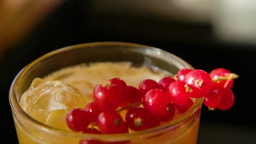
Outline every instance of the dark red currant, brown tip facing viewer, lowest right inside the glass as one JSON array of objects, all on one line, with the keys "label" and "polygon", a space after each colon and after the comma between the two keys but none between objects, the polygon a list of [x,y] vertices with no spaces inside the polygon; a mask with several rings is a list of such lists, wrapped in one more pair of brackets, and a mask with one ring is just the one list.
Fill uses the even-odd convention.
[{"label": "dark red currant, brown tip facing viewer, lowest right inside the glass", "polygon": [[143,130],[148,127],[149,116],[142,107],[131,107],[125,116],[127,126],[135,131]]}]

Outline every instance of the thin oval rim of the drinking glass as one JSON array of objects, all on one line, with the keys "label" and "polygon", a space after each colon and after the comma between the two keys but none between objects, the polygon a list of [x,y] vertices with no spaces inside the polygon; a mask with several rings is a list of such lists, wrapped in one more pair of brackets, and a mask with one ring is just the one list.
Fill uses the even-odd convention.
[{"label": "thin oval rim of the drinking glass", "polygon": [[152,46],[147,46],[147,45],[141,45],[141,44],[135,44],[135,43],[127,43],[127,42],[120,42],[120,41],[99,41],[99,42],[92,42],[92,43],[84,43],[84,44],[77,44],[77,45],[71,45],[71,46],[66,46],[62,47],[60,49],[51,51],[46,53],[45,55],[35,59],[34,61],[28,63],[24,68],[22,68],[19,73],[14,77],[13,82],[11,82],[11,86],[9,89],[9,103],[11,106],[11,110],[13,111],[13,115],[18,115],[19,117],[25,118],[28,123],[31,123],[35,125],[34,127],[37,128],[43,128],[44,131],[48,131],[48,133],[54,133],[57,135],[63,135],[63,136],[72,136],[72,137],[82,137],[84,139],[90,138],[90,139],[97,139],[100,136],[100,139],[108,139],[108,140],[114,140],[118,139],[119,137],[126,137],[126,139],[129,139],[129,137],[143,137],[143,135],[150,135],[157,133],[158,131],[164,131],[170,128],[176,128],[180,124],[183,124],[184,122],[188,121],[190,118],[193,118],[201,108],[203,98],[197,98],[194,101],[194,104],[190,107],[190,109],[183,114],[183,116],[179,117],[176,119],[176,121],[171,121],[167,122],[165,124],[162,124],[158,127],[155,128],[150,128],[147,130],[141,130],[141,131],[136,131],[135,133],[122,133],[122,134],[83,134],[83,133],[75,133],[73,131],[65,131],[61,129],[57,129],[54,127],[51,127],[49,125],[46,125],[44,123],[38,122],[36,119],[32,118],[29,116],[19,105],[19,101],[16,98],[16,86],[19,83],[20,79],[22,76],[26,73],[26,71],[30,70],[34,65],[38,64],[38,62],[43,61],[46,58],[49,58],[50,56],[54,56],[57,53],[64,52],[64,51],[69,51],[73,49],[80,49],[82,47],[91,47],[91,46],[101,46],[101,45],[112,45],[112,46],[131,46],[131,47],[140,47],[142,49],[149,49],[153,51],[158,51],[160,53],[164,53],[165,55],[168,55],[177,61],[179,63],[183,63],[187,68],[194,69],[189,63],[184,61],[182,58],[173,55],[170,52],[164,51],[162,49],[152,47]]}]

